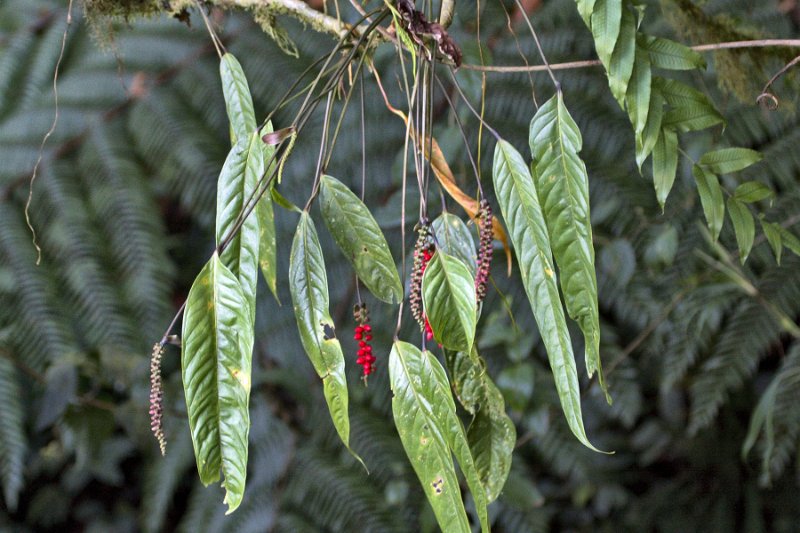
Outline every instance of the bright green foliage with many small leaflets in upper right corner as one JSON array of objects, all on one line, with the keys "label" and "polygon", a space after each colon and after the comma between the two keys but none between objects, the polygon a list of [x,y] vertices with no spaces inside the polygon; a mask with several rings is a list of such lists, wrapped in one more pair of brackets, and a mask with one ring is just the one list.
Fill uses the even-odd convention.
[{"label": "bright green foliage with many small leaflets in upper right corner", "polygon": [[[645,6],[632,0],[576,0],[583,21],[592,31],[597,55],[608,75],[611,93],[628,113],[636,139],[636,163],[641,171],[652,162],[653,184],[661,209],[667,201],[678,170],[678,133],[699,131],[722,124],[724,119],[708,97],[676,79],[655,71],[705,69],[703,57],[683,44],[639,31]],[[709,231],[716,241],[728,218],[733,224],[742,263],[753,246],[755,223],[748,204],[770,200],[774,193],[763,183],[741,183],[728,192],[727,202],[717,174],[744,170],[761,160],[745,148],[716,150],[693,164],[693,175]],[[757,207],[757,206],[756,206]],[[796,240],[778,223],[758,218],[764,236],[780,262],[785,246]],[[796,248],[794,248],[796,249]]]}]

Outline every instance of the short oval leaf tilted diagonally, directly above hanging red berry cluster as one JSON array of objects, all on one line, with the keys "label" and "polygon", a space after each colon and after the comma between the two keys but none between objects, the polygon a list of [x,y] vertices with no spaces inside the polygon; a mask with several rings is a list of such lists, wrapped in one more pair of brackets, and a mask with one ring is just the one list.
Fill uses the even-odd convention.
[{"label": "short oval leaf tilted diagonally, directly above hanging red berry cluster", "polygon": [[400,303],[400,275],[367,206],[336,178],[322,176],[320,209],[325,226],[367,289],[386,303]]}]

